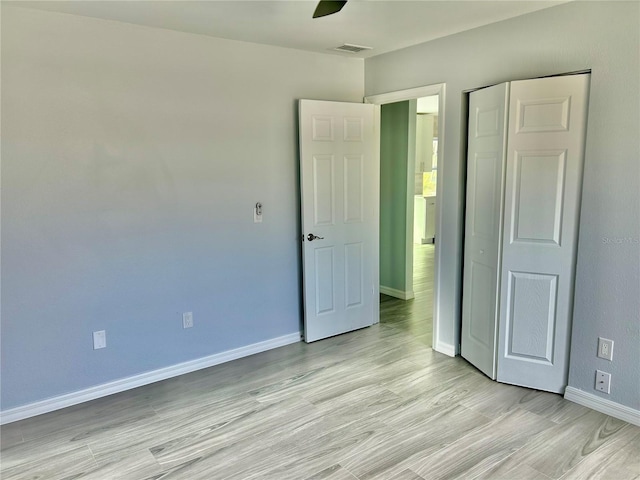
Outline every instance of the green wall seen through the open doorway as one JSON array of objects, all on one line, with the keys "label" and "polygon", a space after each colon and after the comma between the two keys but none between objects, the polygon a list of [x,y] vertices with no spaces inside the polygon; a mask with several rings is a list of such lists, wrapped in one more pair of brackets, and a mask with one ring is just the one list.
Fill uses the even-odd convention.
[{"label": "green wall seen through the open doorway", "polygon": [[415,101],[381,107],[380,285],[400,292],[412,290],[412,285],[407,285],[411,272],[406,270],[407,215],[413,214],[407,212],[413,207],[407,202],[407,172],[413,173],[415,168],[415,122]]}]

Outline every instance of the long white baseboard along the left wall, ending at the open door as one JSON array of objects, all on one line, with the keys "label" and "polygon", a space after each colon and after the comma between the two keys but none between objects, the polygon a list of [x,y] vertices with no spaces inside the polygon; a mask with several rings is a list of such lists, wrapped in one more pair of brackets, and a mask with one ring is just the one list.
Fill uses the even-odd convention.
[{"label": "long white baseboard along the left wall, ending at the open door", "polygon": [[263,342],[253,343],[244,347],[227,350],[226,352],[216,353],[207,357],[190,360],[188,362],[178,363],[169,367],[159,368],[151,372],[141,373],[132,377],[115,380],[113,382],[103,383],[94,387],[78,390],[57,397],[48,398],[39,402],[30,403],[20,407],[10,408],[0,412],[0,425],[23,420],[29,417],[35,417],[43,413],[52,412],[61,408],[70,407],[79,403],[95,400],[96,398],[106,397],[114,393],[124,392],[132,388],[141,387],[150,383],[159,382],[168,378],[184,375],[185,373],[195,372],[203,368],[213,367],[221,363],[236,360],[242,357],[248,357],[256,353],[264,352],[278,347],[283,347],[292,343],[299,342],[301,339],[300,332],[283,335],[282,337],[272,338]]}]

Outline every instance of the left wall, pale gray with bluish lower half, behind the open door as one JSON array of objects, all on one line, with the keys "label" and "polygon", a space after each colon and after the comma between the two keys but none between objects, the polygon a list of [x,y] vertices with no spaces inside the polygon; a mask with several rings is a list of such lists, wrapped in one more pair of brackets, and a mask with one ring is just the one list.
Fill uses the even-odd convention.
[{"label": "left wall, pale gray with bluish lower half, behind the open door", "polygon": [[3,5],[2,408],[298,332],[295,100],[363,93],[358,59]]}]

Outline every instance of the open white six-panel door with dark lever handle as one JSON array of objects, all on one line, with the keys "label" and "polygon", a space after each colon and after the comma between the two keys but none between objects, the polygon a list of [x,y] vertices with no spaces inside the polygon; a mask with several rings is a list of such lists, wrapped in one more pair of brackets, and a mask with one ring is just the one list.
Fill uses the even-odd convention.
[{"label": "open white six-panel door with dark lever handle", "polygon": [[300,100],[306,342],[377,322],[374,109]]}]

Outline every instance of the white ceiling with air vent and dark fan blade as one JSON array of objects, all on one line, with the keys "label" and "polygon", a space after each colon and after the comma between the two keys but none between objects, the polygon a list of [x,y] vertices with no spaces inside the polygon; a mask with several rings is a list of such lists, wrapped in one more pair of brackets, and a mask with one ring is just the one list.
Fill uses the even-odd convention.
[{"label": "white ceiling with air vent and dark fan blade", "polygon": [[[42,10],[167,28],[312,52],[371,57],[552,7],[555,0],[350,0],[313,19],[315,0],[80,0],[5,2]],[[335,52],[344,43],[372,47]]]}]

